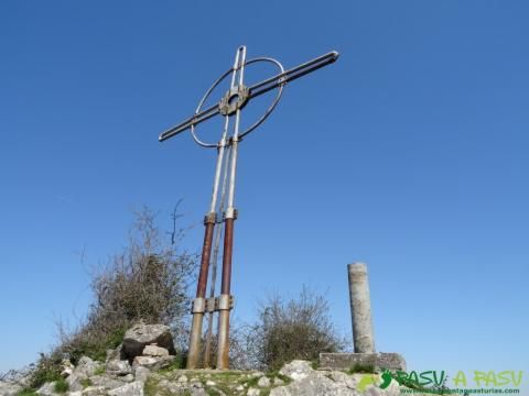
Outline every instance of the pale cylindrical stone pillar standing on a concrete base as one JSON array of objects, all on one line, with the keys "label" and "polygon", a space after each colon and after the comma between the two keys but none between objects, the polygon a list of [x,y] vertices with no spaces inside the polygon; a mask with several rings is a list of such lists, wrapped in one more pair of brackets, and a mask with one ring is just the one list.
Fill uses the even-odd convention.
[{"label": "pale cylindrical stone pillar standing on a concrete base", "polygon": [[353,263],[347,265],[347,271],[355,353],[375,353],[367,266],[364,263]]}]

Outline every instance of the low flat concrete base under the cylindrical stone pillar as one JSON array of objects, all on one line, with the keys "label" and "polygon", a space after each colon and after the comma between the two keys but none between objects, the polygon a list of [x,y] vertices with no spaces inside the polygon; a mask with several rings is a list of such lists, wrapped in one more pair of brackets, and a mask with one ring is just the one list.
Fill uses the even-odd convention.
[{"label": "low flat concrete base under the cylindrical stone pillar", "polygon": [[320,353],[321,370],[349,370],[373,366],[375,372],[385,369],[406,371],[406,361],[398,353]]}]

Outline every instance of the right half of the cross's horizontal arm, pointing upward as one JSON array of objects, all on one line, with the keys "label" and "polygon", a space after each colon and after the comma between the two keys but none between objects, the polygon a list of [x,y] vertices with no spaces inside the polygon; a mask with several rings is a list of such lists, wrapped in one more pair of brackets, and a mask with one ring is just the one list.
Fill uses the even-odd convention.
[{"label": "right half of the cross's horizontal arm, pointing upward", "polygon": [[339,54],[336,51],[332,51],[328,54],[319,56],[317,58],[301,64],[294,68],[291,68],[290,70],[285,70],[277,76],[257,82],[249,88],[249,98],[258,97],[259,95],[268,92],[269,90],[278,88],[287,82],[295,80],[296,78],[303,77],[309,73],[332,64],[336,62],[338,56]]}]

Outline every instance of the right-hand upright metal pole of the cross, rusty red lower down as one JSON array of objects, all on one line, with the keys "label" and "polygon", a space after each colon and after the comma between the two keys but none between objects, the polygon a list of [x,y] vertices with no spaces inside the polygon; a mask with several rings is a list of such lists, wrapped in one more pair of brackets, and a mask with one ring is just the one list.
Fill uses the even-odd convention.
[{"label": "right-hand upright metal pole of the cross, rusty red lower down", "polygon": [[[238,85],[242,86],[245,79],[246,47],[240,46],[237,50]],[[235,73],[234,73],[235,76]],[[229,369],[229,311],[231,309],[231,256],[234,249],[234,222],[236,218],[235,200],[235,177],[237,172],[237,148],[239,140],[240,109],[235,114],[234,135],[230,140],[231,161],[229,168],[229,188],[228,205],[225,213],[224,231],[224,255],[223,255],[223,280],[220,286],[220,297],[218,304],[218,353],[217,369]]]}]

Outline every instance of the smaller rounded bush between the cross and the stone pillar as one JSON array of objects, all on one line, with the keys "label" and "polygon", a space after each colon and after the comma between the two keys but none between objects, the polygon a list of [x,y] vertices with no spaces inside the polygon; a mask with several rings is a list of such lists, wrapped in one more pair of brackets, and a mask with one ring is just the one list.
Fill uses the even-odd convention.
[{"label": "smaller rounded bush between the cross and the stone pillar", "polygon": [[328,302],[306,287],[295,299],[269,297],[258,314],[248,342],[260,369],[279,370],[294,359],[316,361],[320,352],[337,352],[345,346],[328,316]]}]

